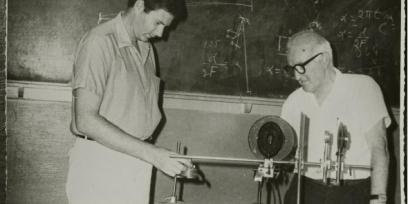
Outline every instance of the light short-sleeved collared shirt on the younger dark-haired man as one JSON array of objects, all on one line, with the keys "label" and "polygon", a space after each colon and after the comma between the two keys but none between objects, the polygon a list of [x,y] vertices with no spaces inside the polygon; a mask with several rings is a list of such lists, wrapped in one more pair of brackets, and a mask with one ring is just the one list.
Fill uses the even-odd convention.
[{"label": "light short-sleeved collared shirt on the younger dark-haired man", "polygon": [[92,29],[79,43],[72,88],[85,88],[101,97],[101,116],[126,133],[146,139],[161,119],[160,79],[151,44],[137,43],[139,50],[131,43],[121,13]]}]

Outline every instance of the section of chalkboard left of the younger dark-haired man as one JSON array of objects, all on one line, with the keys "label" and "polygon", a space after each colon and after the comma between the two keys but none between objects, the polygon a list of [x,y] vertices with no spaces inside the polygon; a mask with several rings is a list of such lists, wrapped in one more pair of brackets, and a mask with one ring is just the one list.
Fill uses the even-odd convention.
[{"label": "section of chalkboard left of the younger dark-haired man", "polygon": [[8,2],[7,77],[68,83],[75,47],[97,24],[99,11],[118,12],[127,0]]}]

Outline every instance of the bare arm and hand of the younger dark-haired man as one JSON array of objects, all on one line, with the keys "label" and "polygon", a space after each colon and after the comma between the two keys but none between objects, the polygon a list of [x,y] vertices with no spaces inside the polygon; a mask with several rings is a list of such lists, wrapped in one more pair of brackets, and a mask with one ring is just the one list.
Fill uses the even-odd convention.
[{"label": "bare arm and hand of the younger dark-haired man", "polygon": [[101,98],[93,92],[78,88],[74,90],[74,96],[74,122],[79,133],[92,137],[110,149],[142,159],[170,176],[180,174],[182,170],[192,166],[191,161],[170,158],[170,155],[176,153],[129,135],[100,116]]}]

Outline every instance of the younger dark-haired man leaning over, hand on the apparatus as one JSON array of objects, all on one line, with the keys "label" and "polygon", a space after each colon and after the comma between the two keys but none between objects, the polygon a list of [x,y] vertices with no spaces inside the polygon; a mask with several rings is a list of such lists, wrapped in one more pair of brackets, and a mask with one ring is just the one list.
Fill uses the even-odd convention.
[{"label": "younger dark-haired man leaning over, hand on the apparatus", "polygon": [[149,142],[161,119],[149,39],[162,36],[181,2],[130,0],[82,38],[72,80],[70,204],[147,204],[152,166],[175,176],[192,165]]}]

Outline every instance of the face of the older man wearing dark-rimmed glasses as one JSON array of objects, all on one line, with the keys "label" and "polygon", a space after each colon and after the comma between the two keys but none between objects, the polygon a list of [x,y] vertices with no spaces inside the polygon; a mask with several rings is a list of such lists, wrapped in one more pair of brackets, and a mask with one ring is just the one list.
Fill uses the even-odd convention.
[{"label": "face of the older man wearing dark-rimmed glasses", "polygon": [[[317,54],[318,53],[312,53],[303,48],[292,48],[289,49],[287,55],[288,63],[291,66],[295,64],[301,64],[308,61]],[[318,55],[316,58],[306,64],[304,66],[304,74],[295,72],[295,79],[299,82],[304,91],[316,93],[316,91],[320,90],[320,88],[323,86],[323,82],[325,81],[326,77],[324,70],[325,68],[321,63],[321,59],[323,56],[324,53]]]}]

